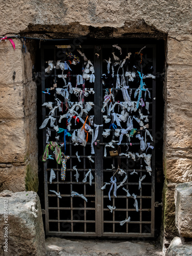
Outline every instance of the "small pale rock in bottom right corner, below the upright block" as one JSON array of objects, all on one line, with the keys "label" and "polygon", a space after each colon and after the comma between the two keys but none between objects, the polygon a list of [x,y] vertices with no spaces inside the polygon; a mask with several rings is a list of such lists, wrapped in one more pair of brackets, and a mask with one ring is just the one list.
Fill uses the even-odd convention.
[{"label": "small pale rock in bottom right corner, below the upright block", "polygon": [[167,256],[188,256],[192,255],[192,243],[182,244],[180,238],[175,237],[167,249]]}]

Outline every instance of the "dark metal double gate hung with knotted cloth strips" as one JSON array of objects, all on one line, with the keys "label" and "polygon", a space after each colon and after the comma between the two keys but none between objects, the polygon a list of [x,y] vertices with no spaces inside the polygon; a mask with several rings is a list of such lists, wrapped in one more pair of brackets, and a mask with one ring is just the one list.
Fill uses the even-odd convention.
[{"label": "dark metal double gate hung with knotted cloth strips", "polygon": [[[46,139],[47,142],[57,142],[61,146],[61,151],[70,157],[66,161],[65,180],[61,180],[61,164],[56,162],[55,148],[50,150],[49,147],[49,156],[44,162],[47,235],[154,237],[155,148],[153,148],[152,137],[155,138],[156,95],[155,79],[147,74],[156,72],[156,47],[147,45],[140,51],[143,47],[141,45],[119,46],[122,54],[118,48],[112,45],[75,47],[71,45],[71,48],[69,46],[59,46],[58,48],[56,46],[41,46],[42,103],[53,102],[50,108],[45,104],[42,106],[42,121],[50,116],[56,119],[52,126],[48,120],[47,126],[43,129],[42,143],[46,148]],[[77,50],[81,51],[82,56]],[[89,80],[83,79],[82,84],[81,77],[78,77],[77,84],[77,75],[82,75],[84,69],[87,68],[88,61],[83,54],[93,64],[90,67],[94,67],[95,81],[91,82],[89,77]],[[125,58],[125,56],[127,57]],[[58,60],[61,61],[57,62]],[[73,60],[77,62],[76,65],[72,65],[71,61]],[[125,63],[121,68],[123,60]],[[59,68],[59,63],[68,64],[72,71],[67,66],[66,69],[64,68],[66,64],[61,65],[62,71]],[[93,71],[93,68],[90,69],[90,67],[88,67],[90,72],[88,75]],[[146,76],[143,77],[142,74]],[[92,79],[94,80],[93,77]],[[141,83],[144,82],[146,85],[143,87]],[[123,92],[121,89],[125,85],[126,89],[123,90],[127,91]],[[138,89],[139,87],[140,89]],[[53,90],[49,90],[50,88]],[[56,88],[60,88],[60,95]],[[145,91],[145,89],[147,90]],[[138,94],[134,97],[136,90]],[[128,96],[125,95],[125,97],[129,98],[130,96],[131,101],[135,101],[130,106],[126,105],[126,108],[122,106],[124,93],[128,93]],[[107,104],[103,109],[104,96],[106,96],[105,99],[108,98],[108,102],[105,101]],[[78,106],[80,101],[82,101],[83,108]],[[74,102],[77,103],[74,109],[76,115],[72,112],[71,116],[65,116],[74,106]],[[94,105],[87,104],[87,102],[94,102]],[[135,109],[136,111],[133,109],[133,107],[137,108],[137,103],[140,112],[138,109]],[[110,113],[112,107],[114,109]],[[130,107],[129,112],[127,111],[128,107]],[[124,112],[122,112],[123,110]],[[126,113],[129,113],[129,116],[126,116]],[[87,116],[94,116],[94,118],[90,119]],[[91,154],[93,134],[88,131],[89,129],[81,129],[83,125],[82,120],[80,121],[81,118],[84,121],[87,120],[86,124],[90,122],[94,132],[98,129],[98,137],[93,143],[95,154]],[[121,127],[118,126],[117,118],[120,120]],[[133,127],[122,133],[122,130],[127,128],[128,119],[133,122]],[[94,127],[94,124],[103,124],[103,126]],[[50,130],[47,129],[48,127]],[[76,137],[70,136],[70,134],[76,135],[74,131],[78,129],[85,134],[86,146],[80,145],[79,141],[75,143]],[[110,131],[105,129],[110,129]],[[120,137],[122,137],[122,141],[118,146]],[[145,145],[144,151],[141,151],[141,143]],[[115,150],[120,156],[110,155],[110,151]],[[143,153],[146,155],[142,155]],[[115,153],[112,152],[112,154]],[[152,172],[150,168],[152,168]],[[52,182],[50,182],[51,170],[56,176]],[[84,180],[86,174],[88,174],[87,181]],[[90,180],[92,185],[90,185]],[[116,195],[114,193],[115,186],[118,187]],[[111,201],[109,200],[110,188],[112,188]],[[60,193],[61,198],[50,190]],[[72,191],[75,191],[76,194],[73,194]],[[109,208],[109,205],[116,208]]]}]

